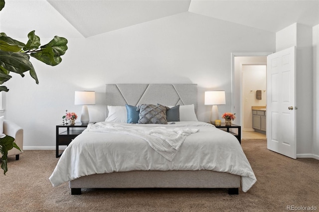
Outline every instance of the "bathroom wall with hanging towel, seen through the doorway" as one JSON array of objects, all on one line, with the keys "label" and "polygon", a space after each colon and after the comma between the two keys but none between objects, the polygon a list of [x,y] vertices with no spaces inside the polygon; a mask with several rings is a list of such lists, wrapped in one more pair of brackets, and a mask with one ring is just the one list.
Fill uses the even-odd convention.
[{"label": "bathroom wall with hanging towel, seen through the doorway", "polygon": [[[266,106],[266,65],[243,65],[243,131],[254,131],[252,106]],[[256,99],[261,90],[262,99]]]}]

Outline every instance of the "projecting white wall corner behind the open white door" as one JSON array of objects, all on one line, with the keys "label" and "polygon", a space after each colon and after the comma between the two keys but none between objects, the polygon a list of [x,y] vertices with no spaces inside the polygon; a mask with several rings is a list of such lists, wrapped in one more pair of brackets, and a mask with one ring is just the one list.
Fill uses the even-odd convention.
[{"label": "projecting white wall corner behind the open white door", "polygon": [[313,44],[312,27],[294,23],[276,33],[276,51],[297,47],[297,157],[313,157]]}]

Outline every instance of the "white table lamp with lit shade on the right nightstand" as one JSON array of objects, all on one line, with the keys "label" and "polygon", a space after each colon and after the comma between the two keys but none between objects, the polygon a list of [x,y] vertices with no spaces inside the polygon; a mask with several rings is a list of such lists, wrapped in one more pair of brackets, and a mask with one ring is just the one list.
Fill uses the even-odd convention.
[{"label": "white table lamp with lit shade on the right nightstand", "polygon": [[225,105],[225,91],[205,91],[205,105],[212,105],[210,122],[215,124],[215,120],[219,120],[217,105]]}]

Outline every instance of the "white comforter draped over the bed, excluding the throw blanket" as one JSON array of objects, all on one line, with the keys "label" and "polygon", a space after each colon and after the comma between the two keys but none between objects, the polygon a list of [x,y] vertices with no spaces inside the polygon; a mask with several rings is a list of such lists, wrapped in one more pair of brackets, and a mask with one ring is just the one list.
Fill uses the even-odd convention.
[{"label": "white comforter draped over the bed, excluding the throw blanket", "polygon": [[[168,129],[197,131],[185,136],[171,161],[150,146],[145,139],[132,134],[106,132],[111,122],[88,127],[64,150],[50,181],[53,186],[76,178],[133,170],[212,170],[241,176],[247,192],[256,182],[253,170],[239,144],[230,133],[200,121],[167,124]],[[115,124],[116,127],[163,127],[160,124]],[[98,129],[100,128],[100,129]],[[112,127],[109,127],[112,128]],[[97,130],[95,130],[97,129]],[[116,130],[113,130],[116,131]]]}]

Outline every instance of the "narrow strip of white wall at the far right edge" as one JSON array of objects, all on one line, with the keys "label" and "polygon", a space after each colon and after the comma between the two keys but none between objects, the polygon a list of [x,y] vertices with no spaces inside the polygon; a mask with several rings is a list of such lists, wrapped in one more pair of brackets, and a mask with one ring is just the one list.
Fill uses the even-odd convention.
[{"label": "narrow strip of white wall at the far right edge", "polygon": [[319,160],[319,25],[313,27],[314,69],[314,143],[313,154]]}]

